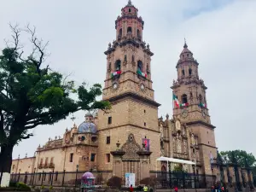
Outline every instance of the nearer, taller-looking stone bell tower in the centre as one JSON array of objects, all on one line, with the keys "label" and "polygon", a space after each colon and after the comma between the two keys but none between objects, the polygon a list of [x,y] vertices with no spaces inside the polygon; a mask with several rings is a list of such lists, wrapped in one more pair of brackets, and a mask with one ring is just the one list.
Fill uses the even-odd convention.
[{"label": "nearer, taller-looking stone bell tower in the centre", "polygon": [[[143,26],[144,21],[138,16],[138,9],[129,1],[115,20],[116,38],[104,52],[107,55],[107,72],[102,99],[111,102],[112,109],[110,113],[98,113],[99,170],[113,169],[110,152],[116,149],[118,142],[122,147],[131,134],[140,146],[143,138],[149,139],[149,150],[152,152],[150,158],[154,162],[148,165],[149,170],[155,170],[155,160],[160,157],[160,104],[154,101],[151,80],[151,56],[154,54],[143,41]],[[127,155],[125,158],[132,159]],[[123,173],[131,172],[130,168],[127,170],[126,164],[123,167]],[[139,167],[135,168],[133,164],[131,169],[133,172]]]}]

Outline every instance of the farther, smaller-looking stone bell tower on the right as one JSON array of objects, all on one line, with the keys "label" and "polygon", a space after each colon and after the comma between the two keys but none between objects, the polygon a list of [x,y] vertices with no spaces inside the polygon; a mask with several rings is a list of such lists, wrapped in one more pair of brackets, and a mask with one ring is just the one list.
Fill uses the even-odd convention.
[{"label": "farther, smaller-looking stone bell tower on the right", "polygon": [[[173,116],[198,136],[202,172],[212,174],[210,158],[216,158],[217,148],[214,129],[207,108],[207,86],[200,79],[199,63],[185,42],[177,61],[177,80],[173,80]],[[201,164],[201,165],[200,165]]]}]

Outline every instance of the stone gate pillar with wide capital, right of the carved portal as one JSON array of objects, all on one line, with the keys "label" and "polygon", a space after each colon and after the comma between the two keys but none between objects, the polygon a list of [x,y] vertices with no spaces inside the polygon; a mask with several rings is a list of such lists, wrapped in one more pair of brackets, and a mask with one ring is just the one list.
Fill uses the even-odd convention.
[{"label": "stone gate pillar with wide capital, right of the carved portal", "polygon": [[140,155],[140,180],[146,177],[150,177],[149,175],[149,156],[152,154],[150,151],[142,150],[137,152]]}]

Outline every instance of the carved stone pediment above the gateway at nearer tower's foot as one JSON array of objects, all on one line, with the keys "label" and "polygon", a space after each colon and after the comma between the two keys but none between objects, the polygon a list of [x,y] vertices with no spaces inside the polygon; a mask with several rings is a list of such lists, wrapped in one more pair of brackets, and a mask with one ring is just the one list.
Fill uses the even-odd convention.
[{"label": "carved stone pediment above the gateway at nearer tower's foot", "polygon": [[141,151],[142,148],[138,143],[136,143],[132,133],[128,136],[128,139],[122,146],[121,150],[125,151],[125,155],[122,157],[122,160],[140,160],[140,156],[137,152]]}]

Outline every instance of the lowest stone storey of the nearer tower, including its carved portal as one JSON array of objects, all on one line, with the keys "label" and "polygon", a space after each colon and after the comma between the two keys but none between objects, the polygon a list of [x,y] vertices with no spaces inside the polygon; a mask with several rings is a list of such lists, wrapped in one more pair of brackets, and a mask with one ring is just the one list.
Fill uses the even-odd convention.
[{"label": "lowest stone storey of the nearer tower, including its carved portal", "polygon": [[[106,144],[106,137],[111,136],[111,141]],[[143,138],[149,141],[150,154],[143,154]],[[113,154],[117,150],[116,143],[120,143],[119,148],[125,152],[121,157],[111,155],[108,162],[108,154]],[[156,159],[160,157],[159,132],[137,128],[135,125],[125,125],[118,128],[100,131],[98,141],[97,168],[100,171],[113,170],[113,175],[122,177],[125,181],[125,173],[136,174],[136,183],[143,178],[149,177],[150,171],[155,171],[157,167]],[[141,152],[141,153],[140,153]]]}]

